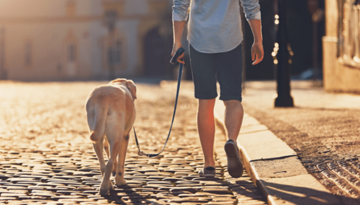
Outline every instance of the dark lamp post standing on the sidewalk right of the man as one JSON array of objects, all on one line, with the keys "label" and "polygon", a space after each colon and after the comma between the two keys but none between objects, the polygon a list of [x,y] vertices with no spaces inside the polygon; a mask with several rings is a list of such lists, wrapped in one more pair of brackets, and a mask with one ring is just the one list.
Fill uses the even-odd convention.
[{"label": "dark lamp post standing on the sidewalk right of the man", "polygon": [[277,50],[275,67],[278,96],[275,99],[275,107],[294,107],[294,100],[290,95],[290,65],[293,53],[286,30],[285,2],[286,0],[278,0],[279,27],[276,36],[278,49],[274,49]]}]

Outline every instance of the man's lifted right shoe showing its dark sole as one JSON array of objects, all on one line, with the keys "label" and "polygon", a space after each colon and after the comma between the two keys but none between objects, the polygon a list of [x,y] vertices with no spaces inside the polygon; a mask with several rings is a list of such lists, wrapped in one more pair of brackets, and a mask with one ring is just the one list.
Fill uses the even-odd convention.
[{"label": "man's lifted right shoe showing its dark sole", "polygon": [[240,159],[239,148],[231,139],[225,143],[225,152],[227,156],[227,171],[230,176],[233,178],[241,177],[244,172],[244,167]]}]

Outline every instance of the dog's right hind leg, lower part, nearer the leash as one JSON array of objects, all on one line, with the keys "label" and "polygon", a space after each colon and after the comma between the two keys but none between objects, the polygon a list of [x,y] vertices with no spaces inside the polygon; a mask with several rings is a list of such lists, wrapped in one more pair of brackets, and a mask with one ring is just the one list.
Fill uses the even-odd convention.
[{"label": "dog's right hind leg, lower part, nearer the leash", "polygon": [[115,184],[118,186],[126,185],[126,180],[124,179],[124,165],[125,157],[128,150],[129,144],[129,134],[122,137],[120,151],[119,151],[119,160],[118,166],[116,169],[115,175]]}]

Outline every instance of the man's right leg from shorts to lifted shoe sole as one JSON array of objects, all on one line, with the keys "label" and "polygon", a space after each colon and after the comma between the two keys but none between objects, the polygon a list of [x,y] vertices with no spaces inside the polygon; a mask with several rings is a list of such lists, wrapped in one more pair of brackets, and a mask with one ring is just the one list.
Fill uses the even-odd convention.
[{"label": "man's right leg from shorts to lifted shoe sole", "polygon": [[220,99],[225,104],[224,123],[229,139],[224,146],[227,156],[227,171],[234,178],[241,177],[243,165],[240,159],[237,139],[243,120],[241,105],[242,49],[235,49],[217,55],[217,76],[220,84]]}]

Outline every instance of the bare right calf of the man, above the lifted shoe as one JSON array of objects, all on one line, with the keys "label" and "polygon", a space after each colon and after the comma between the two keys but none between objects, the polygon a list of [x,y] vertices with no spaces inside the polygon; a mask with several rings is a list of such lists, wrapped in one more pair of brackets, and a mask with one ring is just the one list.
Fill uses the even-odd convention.
[{"label": "bare right calf of the man, above the lifted shoe", "polygon": [[244,109],[239,100],[224,100],[225,128],[228,139],[237,144],[238,135],[244,117]]}]

